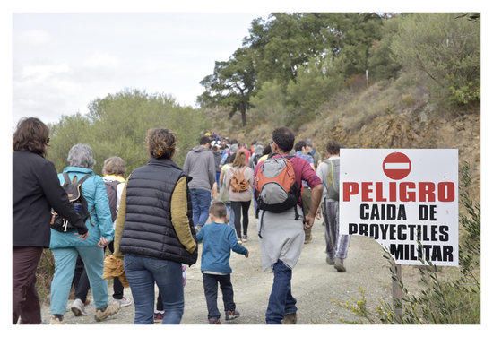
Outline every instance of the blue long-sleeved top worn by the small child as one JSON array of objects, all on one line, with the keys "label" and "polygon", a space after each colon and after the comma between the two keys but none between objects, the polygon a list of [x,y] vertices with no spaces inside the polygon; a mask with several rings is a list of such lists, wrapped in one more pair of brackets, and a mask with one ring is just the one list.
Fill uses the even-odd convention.
[{"label": "blue long-sleeved top worn by the small child", "polygon": [[247,248],[238,244],[235,229],[224,223],[206,224],[197,234],[197,240],[203,241],[200,266],[202,272],[231,273],[233,272],[229,266],[231,249],[242,255],[248,253]]}]

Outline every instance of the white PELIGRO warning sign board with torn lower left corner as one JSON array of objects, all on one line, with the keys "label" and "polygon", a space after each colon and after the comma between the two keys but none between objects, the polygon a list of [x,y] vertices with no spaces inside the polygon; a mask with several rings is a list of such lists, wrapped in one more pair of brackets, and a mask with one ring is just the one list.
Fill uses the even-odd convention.
[{"label": "white PELIGRO warning sign board with torn lower left corner", "polygon": [[341,234],[375,238],[397,264],[459,265],[458,160],[456,149],[341,149]]}]

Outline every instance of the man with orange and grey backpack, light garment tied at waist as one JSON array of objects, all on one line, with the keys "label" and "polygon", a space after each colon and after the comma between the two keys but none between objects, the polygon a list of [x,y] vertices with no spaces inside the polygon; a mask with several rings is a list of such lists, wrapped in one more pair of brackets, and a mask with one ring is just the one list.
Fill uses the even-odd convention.
[{"label": "man with orange and grey backpack, light garment tied at waist", "polygon": [[[255,196],[260,213],[259,237],[264,270],[274,280],[265,313],[266,324],[296,324],[296,299],[291,293],[292,269],[298,263],[322,197],[322,182],[306,160],[289,156],[295,135],[287,127],[272,132],[272,155],[255,168]],[[311,187],[307,214],[301,207],[301,181]]]}]

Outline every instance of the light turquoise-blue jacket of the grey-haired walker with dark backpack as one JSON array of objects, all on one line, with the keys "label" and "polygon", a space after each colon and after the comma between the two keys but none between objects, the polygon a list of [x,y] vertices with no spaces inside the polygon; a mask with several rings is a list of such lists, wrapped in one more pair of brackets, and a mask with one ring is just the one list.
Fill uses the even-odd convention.
[{"label": "light turquoise-blue jacket of the grey-haired walker with dark backpack", "polygon": [[[82,195],[88,203],[89,212],[91,212],[91,221],[88,219],[85,223],[87,229],[89,229],[89,236],[82,240],[77,238],[77,232],[61,233],[51,229],[49,247],[53,249],[71,246],[96,246],[101,237],[108,239],[108,241],[113,241],[115,230],[113,229],[108,194],[103,178],[96,175],[90,168],[69,166],[64,169],[64,172],[68,173],[70,179],[74,176],[77,176],[77,179],[81,179],[87,174],[91,175],[82,183]],[[60,185],[64,184],[63,174],[58,174],[58,180],[60,180]]]}]

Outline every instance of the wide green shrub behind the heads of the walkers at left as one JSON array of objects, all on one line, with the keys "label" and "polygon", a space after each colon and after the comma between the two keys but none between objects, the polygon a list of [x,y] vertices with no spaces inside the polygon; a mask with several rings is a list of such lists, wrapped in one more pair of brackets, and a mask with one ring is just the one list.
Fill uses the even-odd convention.
[{"label": "wide green shrub behind the heads of the walkers at left", "polygon": [[89,116],[62,117],[52,125],[48,159],[61,171],[70,148],[75,143],[88,143],[94,151],[96,173],[101,172],[106,158],[119,156],[125,160],[128,174],[148,160],[147,130],[166,127],[177,134],[174,160],[182,165],[208,123],[202,110],[181,107],[167,95],[120,91],[91,102]]}]

